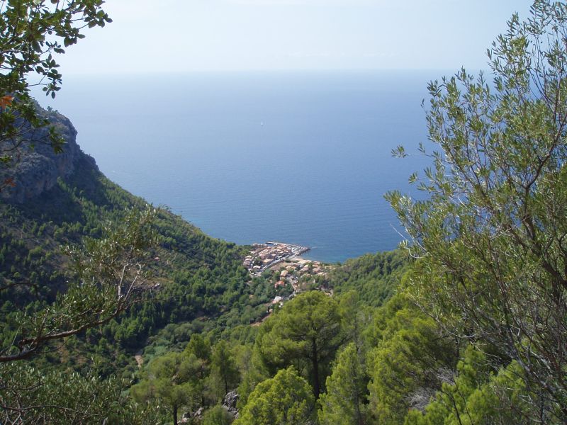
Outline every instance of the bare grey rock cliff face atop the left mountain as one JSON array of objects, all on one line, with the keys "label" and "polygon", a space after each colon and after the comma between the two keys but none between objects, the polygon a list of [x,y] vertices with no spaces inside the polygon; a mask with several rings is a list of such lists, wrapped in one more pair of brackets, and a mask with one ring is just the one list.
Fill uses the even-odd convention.
[{"label": "bare grey rock cliff face atop the left mountain", "polygon": [[63,137],[63,152],[53,152],[47,128],[34,130],[31,137],[33,149],[29,149],[30,144],[26,143],[23,150],[29,149],[29,152],[23,154],[16,166],[4,172],[4,178],[10,177],[14,183],[13,187],[9,186],[0,191],[0,198],[6,202],[24,203],[50,190],[57,183],[57,179],[64,179],[73,173],[79,159],[86,159],[89,166],[98,169],[94,159],[84,154],[77,145],[77,130],[71,121],[60,113],[51,111],[45,111],[45,116]]}]

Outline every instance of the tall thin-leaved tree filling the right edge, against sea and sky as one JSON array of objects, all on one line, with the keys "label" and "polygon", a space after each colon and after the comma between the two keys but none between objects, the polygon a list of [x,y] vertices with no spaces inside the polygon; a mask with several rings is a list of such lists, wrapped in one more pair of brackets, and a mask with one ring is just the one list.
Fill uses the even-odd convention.
[{"label": "tall thin-leaved tree filling the right edge, against sea and sky", "polygon": [[432,82],[427,124],[439,151],[421,183],[429,198],[388,195],[421,259],[415,302],[456,338],[515,361],[528,391],[523,402],[560,421],[567,418],[566,34],[567,4],[536,0],[531,17],[513,16],[488,50],[492,85],[464,70]]}]

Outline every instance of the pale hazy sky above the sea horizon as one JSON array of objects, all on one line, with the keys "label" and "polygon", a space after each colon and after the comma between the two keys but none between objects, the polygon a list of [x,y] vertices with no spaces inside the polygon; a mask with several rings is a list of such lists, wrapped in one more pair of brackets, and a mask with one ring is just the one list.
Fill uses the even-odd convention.
[{"label": "pale hazy sky above the sea horizon", "polygon": [[107,0],[63,74],[469,69],[527,0]]}]

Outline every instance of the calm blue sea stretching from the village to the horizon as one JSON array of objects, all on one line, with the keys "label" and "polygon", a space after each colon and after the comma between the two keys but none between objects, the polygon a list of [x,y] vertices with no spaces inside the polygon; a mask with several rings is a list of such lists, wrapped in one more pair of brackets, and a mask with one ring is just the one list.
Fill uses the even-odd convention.
[{"label": "calm blue sea stretching from the village to the horizon", "polygon": [[213,237],[335,262],[402,239],[383,194],[428,161],[427,82],[444,72],[66,77],[55,101],[111,180]]}]

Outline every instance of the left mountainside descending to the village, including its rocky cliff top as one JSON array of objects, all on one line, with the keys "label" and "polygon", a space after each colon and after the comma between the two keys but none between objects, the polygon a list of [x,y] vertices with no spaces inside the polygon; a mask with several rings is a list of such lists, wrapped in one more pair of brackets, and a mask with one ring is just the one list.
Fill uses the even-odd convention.
[{"label": "left mountainside descending to the village, including its rocky cliff top", "polygon": [[[103,227],[120,222],[129,209],[147,208],[144,200],[106,179],[94,159],[81,152],[67,118],[49,116],[66,140],[64,154],[56,155],[38,142],[14,171],[16,186],[2,192],[0,312],[5,343],[15,331],[6,325],[10,314],[36,302],[52,302],[64,290],[69,259],[60,246],[99,238]],[[140,349],[147,336],[167,324],[221,314],[221,324],[248,323],[265,313],[270,287],[266,285],[268,295],[250,297],[249,275],[242,267],[244,247],[208,237],[167,210],[159,211],[155,226],[159,246],[152,268],[161,288],[155,300],[82,336],[88,343],[82,348],[91,352],[98,346],[103,363],[116,346]],[[111,373],[112,368],[105,369]]]}]

